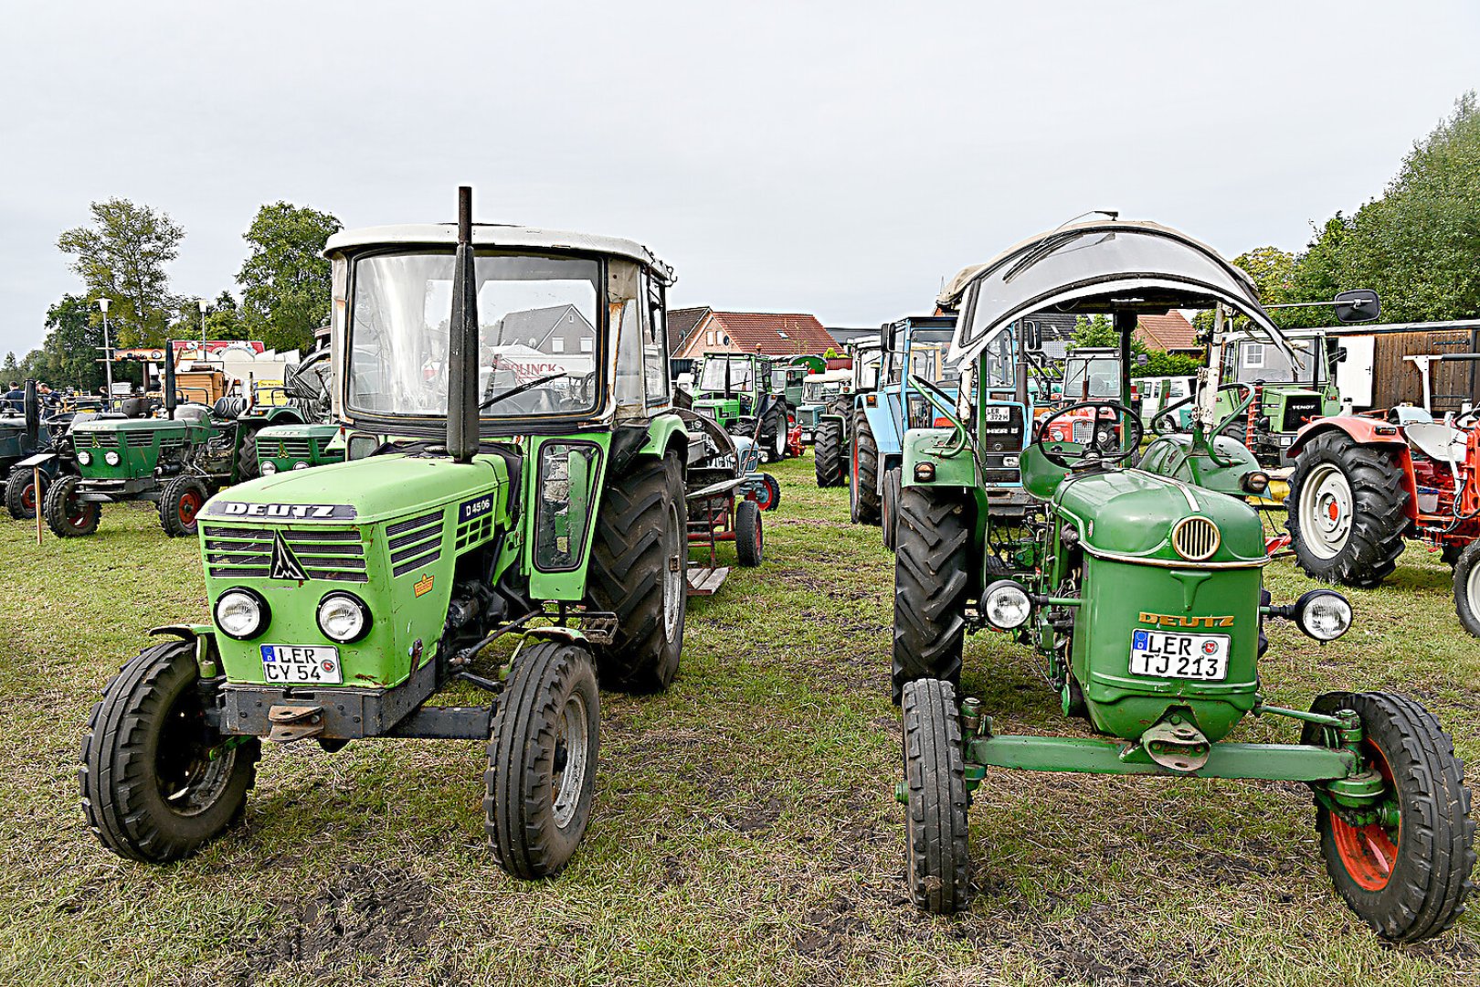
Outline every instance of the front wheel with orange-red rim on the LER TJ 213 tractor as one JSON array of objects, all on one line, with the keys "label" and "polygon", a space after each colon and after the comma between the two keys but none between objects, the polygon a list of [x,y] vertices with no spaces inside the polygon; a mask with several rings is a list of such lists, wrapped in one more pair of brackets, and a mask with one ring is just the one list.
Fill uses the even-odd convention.
[{"label": "front wheel with orange-red rim on the LER TJ 213 tractor", "polygon": [[[1326,873],[1378,935],[1412,943],[1439,935],[1464,912],[1476,864],[1470,789],[1453,740],[1422,706],[1391,693],[1326,693],[1317,713],[1362,719],[1365,768],[1385,783],[1368,815],[1316,804]],[[1320,728],[1307,725],[1305,743]]]}]

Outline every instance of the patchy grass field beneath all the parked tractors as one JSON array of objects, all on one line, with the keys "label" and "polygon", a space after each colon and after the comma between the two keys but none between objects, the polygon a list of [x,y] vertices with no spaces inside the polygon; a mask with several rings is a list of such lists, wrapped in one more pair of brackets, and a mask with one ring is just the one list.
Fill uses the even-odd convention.
[{"label": "patchy grass field beneath all the parked tractors", "polygon": [[[158,623],[204,620],[197,546],[142,508],[98,537],[0,525],[0,983],[43,984],[1480,984],[1480,909],[1390,949],[1339,903],[1298,784],[995,771],[971,814],[969,913],[910,906],[892,556],[774,472],[767,558],[690,602],[666,695],[602,695],[591,829],[556,880],[484,849],[475,743],[268,750],[246,824],[154,869],[83,826],[74,761],[99,687]],[[1308,583],[1268,570],[1277,599]],[[1480,756],[1480,644],[1449,570],[1410,549],[1317,647],[1271,630],[1271,701],[1405,691]],[[1070,731],[1023,651],[968,639],[968,693],[1005,731]],[[1294,738],[1257,721],[1236,738]]]}]

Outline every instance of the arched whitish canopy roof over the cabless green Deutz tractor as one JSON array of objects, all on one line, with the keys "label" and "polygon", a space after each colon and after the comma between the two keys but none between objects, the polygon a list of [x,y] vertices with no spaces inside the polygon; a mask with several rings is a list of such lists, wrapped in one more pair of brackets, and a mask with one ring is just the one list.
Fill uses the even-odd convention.
[{"label": "arched whitish canopy roof over the cabless green Deutz tractor", "polygon": [[1248,274],[1185,234],[1148,222],[1098,220],[1039,234],[961,271],[935,299],[961,312],[952,361],[974,358],[993,333],[1033,312],[1163,314],[1224,303],[1289,345],[1259,306]]}]

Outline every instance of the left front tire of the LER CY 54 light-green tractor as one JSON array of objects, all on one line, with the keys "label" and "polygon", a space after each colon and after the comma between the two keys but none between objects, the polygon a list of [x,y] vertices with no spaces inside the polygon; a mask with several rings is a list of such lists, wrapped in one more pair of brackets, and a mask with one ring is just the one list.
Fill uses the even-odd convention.
[{"label": "left front tire of the LER CY 54 light-green tractor", "polygon": [[192,641],[157,644],[108,681],[87,716],[77,769],[83,817],[120,857],[151,864],[179,860],[241,818],[262,755],[256,737],[212,762],[225,777],[200,812],[178,812],[160,792],[161,734],[182,701],[186,710],[198,701],[198,682]]}]

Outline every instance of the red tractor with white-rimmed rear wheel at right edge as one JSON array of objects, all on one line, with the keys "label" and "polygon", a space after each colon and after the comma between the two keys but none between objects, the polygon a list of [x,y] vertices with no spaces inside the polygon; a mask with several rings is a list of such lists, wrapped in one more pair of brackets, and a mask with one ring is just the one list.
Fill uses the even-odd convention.
[{"label": "red tractor with white-rimmed rear wheel at right edge", "polygon": [[1419,539],[1455,567],[1455,610],[1480,638],[1480,425],[1459,428],[1412,407],[1336,416],[1302,428],[1285,499],[1305,574],[1376,586]]}]

